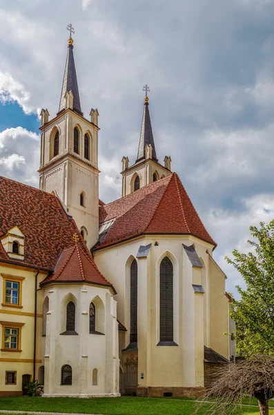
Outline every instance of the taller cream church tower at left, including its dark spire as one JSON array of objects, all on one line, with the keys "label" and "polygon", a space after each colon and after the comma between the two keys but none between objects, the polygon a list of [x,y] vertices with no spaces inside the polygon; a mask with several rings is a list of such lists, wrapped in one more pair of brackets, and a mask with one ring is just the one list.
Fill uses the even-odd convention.
[{"label": "taller cream church tower at left, including its dark spire", "polygon": [[98,116],[91,109],[90,120],[81,111],[75,60],[73,28],[68,26],[68,55],[57,116],[49,120],[41,110],[41,190],[54,192],[81,231],[88,248],[98,239]]}]

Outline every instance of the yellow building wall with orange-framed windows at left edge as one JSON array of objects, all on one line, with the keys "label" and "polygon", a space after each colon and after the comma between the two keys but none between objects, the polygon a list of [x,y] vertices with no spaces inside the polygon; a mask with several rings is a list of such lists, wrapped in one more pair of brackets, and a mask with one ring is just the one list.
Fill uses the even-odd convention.
[{"label": "yellow building wall with orange-framed windows at left edge", "polygon": [[[22,376],[33,378],[34,333],[35,333],[35,275],[37,270],[0,263],[0,322],[23,324],[21,326],[21,351],[0,351],[0,396],[22,393]],[[3,275],[23,277],[21,282],[21,308],[3,306]],[[37,288],[47,273],[37,275]],[[41,366],[43,296],[37,291],[37,352],[35,378]],[[0,324],[0,344],[3,342],[3,324]],[[6,371],[17,372],[16,385],[6,385]]]}]

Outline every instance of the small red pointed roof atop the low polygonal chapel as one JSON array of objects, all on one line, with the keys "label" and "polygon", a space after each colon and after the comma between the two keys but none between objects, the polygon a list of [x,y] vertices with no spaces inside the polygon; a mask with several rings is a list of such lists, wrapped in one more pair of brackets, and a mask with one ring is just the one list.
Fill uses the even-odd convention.
[{"label": "small red pointed roof atop the low polygonal chapel", "polygon": [[50,282],[88,282],[111,286],[99,272],[90,255],[87,255],[78,244],[61,252],[54,273],[46,277],[41,285]]}]

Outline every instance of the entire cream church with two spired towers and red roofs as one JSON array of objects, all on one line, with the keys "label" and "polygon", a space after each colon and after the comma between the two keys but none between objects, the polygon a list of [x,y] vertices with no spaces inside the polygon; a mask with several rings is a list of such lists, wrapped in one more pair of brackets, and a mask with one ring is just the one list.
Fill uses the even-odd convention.
[{"label": "entire cream church with two spired towers and red roofs", "polygon": [[121,199],[99,199],[99,112],[81,111],[73,40],[57,115],[41,110],[39,190],[0,177],[0,396],[199,396],[233,359],[226,275],[145,87]]}]

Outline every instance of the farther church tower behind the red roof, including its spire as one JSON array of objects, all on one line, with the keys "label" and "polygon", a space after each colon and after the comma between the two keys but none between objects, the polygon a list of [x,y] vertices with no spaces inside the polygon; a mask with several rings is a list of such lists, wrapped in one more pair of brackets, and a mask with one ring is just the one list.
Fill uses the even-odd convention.
[{"label": "farther church tower behind the red roof, including its spire", "polygon": [[123,157],[121,160],[123,197],[172,173],[170,171],[170,156],[164,158],[164,165],[161,165],[157,159],[148,110],[148,91],[150,91],[148,85],[144,86],[143,91],[146,91],[146,96],[144,98],[144,113],[141,122],[137,160],[130,167],[128,166],[128,157]]}]

